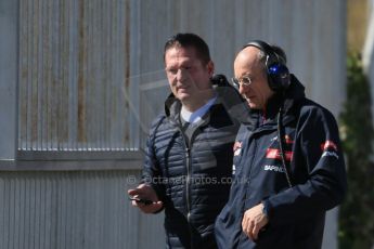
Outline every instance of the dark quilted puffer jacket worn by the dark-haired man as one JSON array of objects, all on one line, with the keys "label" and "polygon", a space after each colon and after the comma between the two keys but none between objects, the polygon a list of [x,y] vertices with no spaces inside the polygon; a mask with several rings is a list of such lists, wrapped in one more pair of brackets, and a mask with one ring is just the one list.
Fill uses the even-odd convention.
[{"label": "dark quilted puffer jacket worn by the dark-haired man", "polygon": [[167,248],[216,248],[214,223],[228,200],[238,129],[222,102],[219,94],[190,135],[183,135],[173,96],[153,122],[143,182],[164,201]]}]

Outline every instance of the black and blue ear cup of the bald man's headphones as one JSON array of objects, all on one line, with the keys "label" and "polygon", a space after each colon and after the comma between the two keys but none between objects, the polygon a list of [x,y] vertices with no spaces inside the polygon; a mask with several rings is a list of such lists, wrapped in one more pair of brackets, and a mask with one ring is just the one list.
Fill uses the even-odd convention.
[{"label": "black and blue ear cup of the bald man's headphones", "polygon": [[288,68],[283,64],[268,66],[268,82],[274,92],[286,90],[291,83]]}]

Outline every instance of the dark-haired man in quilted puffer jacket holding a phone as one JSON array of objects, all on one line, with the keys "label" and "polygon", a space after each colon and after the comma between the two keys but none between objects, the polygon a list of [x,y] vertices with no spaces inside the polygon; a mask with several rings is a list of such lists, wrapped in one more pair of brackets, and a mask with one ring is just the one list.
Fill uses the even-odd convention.
[{"label": "dark-haired man in quilted puffer jacket holding a phone", "polygon": [[238,129],[229,113],[246,112],[236,108],[245,104],[230,87],[212,87],[214,64],[198,36],[172,37],[164,60],[172,94],[152,124],[143,183],[128,193],[145,213],[165,209],[167,248],[216,248],[214,223],[228,200]]}]

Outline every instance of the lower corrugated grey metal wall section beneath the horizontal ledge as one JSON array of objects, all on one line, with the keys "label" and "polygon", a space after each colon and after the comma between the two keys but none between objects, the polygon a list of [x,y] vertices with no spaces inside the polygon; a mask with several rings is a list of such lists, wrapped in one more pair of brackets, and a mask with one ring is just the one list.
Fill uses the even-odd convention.
[{"label": "lower corrugated grey metal wall section beneath the horizontal ledge", "polygon": [[138,171],[2,172],[0,248],[163,248],[163,214],[127,199],[134,181]]}]

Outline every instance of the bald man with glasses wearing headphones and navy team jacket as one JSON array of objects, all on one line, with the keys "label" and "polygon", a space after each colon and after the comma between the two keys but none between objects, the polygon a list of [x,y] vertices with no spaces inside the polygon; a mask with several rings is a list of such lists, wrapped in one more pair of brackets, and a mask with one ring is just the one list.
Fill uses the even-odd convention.
[{"label": "bald man with glasses wearing headphones and navy team jacket", "polygon": [[252,126],[234,144],[230,198],[216,220],[219,248],[321,248],[325,212],[346,192],[333,115],[306,99],[284,52],[252,41],[237,54],[233,83]]}]

